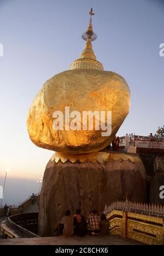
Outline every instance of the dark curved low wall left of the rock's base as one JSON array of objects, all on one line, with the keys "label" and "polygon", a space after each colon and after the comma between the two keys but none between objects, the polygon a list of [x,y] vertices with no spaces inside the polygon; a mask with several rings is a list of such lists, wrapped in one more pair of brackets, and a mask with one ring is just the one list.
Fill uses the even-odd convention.
[{"label": "dark curved low wall left of the rock's base", "polygon": [[9,217],[2,222],[1,235],[3,238],[39,237],[38,213],[22,213]]}]

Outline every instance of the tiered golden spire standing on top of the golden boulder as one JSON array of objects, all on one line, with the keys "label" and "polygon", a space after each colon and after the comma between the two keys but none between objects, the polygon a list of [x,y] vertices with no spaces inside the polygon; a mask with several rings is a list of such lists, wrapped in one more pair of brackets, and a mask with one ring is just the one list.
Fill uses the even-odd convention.
[{"label": "tiered golden spire standing on top of the golden boulder", "polygon": [[79,59],[72,62],[70,69],[87,68],[103,70],[102,63],[96,60],[96,55],[94,54],[92,49],[91,42],[97,38],[96,34],[93,33],[92,28],[92,15],[95,15],[95,13],[93,13],[92,8],[89,14],[91,15],[89,26],[87,28],[87,31],[82,35],[82,38],[86,40],[85,48],[83,52],[80,54]]}]

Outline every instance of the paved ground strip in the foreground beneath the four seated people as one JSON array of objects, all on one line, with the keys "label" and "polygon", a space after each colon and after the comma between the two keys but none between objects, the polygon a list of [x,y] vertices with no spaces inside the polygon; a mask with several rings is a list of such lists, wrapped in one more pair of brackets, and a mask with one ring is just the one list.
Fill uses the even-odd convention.
[{"label": "paved ground strip in the foreground beneath the four seated people", "polygon": [[138,242],[125,240],[118,236],[86,236],[86,237],[34,237],[2,239],[1,245],[141,245]]}]

